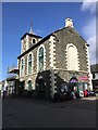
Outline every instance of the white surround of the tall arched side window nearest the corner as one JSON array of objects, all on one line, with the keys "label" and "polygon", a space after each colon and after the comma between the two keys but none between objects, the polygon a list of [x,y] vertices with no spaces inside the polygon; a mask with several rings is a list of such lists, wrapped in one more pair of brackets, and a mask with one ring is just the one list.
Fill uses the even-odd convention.
[{"label": "white surround of the tall arched side window nearest the corner", "polygon": [[37,73],[38,73],[38,64],[39,64],[39,61],[38,61],[38,58],[39,58],[39,49],[40,48],[44,48],[44,70],[46,69],[46,49],[45,49],[45,46],[44,44],[40,44],[39,46],[39,48],[37,49]]}]

